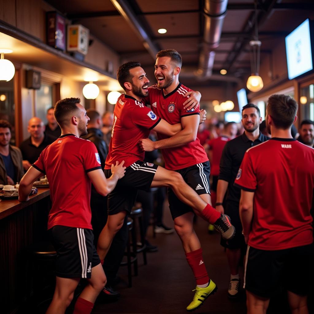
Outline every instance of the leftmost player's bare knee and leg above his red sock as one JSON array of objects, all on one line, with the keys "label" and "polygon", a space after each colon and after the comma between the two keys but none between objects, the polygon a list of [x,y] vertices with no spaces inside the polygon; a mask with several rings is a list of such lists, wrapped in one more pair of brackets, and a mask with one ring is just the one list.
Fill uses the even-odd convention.
[{"label": "leftmost player's bare knee and leg above his red sock", "polygon": [[106,285],[107,279],[101,264],[92,268],[91,278],[88,279],[88,285],[80,294],[80,298],[95,303],[100,291]]}]

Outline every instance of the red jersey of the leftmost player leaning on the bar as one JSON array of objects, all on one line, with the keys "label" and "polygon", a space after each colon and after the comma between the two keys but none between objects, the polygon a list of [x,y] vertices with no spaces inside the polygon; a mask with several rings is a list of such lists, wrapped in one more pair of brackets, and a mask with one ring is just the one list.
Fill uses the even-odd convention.
[{"label": "red jersey of the leftmost player leaning on the bar", "polygon": [[41,152],[33,167],[45,173],[49,181],[52,207],[48,229],[56,225],[93,229],[87,172],[101,169],[96,146],[65,134]]}]

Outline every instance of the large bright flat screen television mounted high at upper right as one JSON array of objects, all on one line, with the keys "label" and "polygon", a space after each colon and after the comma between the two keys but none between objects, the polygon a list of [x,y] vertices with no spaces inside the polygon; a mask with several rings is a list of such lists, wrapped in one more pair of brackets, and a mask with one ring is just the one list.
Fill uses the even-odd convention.
[{"label": "large bright flat screen television mounted high at upper right", "polygon": [[306,19],[285,38],[289,79],[313,70],[312,25],[311,21]]}]

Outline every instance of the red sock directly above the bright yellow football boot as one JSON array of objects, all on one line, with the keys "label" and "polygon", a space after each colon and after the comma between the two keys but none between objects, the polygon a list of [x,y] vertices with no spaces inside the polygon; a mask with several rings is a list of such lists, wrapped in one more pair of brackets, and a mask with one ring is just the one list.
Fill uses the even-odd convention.
[{"label": "red sock directly above the bright yellow football boot", "polygon": [[196,284],[207,284],[209,281],[208,273],[204,264],[202,249],[185,253],[187,263],[192,268]]}]

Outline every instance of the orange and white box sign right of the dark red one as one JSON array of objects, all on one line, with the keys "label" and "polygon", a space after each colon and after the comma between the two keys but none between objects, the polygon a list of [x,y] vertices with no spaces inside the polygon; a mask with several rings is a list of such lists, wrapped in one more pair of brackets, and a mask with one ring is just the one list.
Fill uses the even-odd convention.
[{"label": "orange and white box sign right of the dark red one", "polygon": [[80,24],[68,25],[67,51],[77,51],[86,55],[88,44],[89,29]]}]

